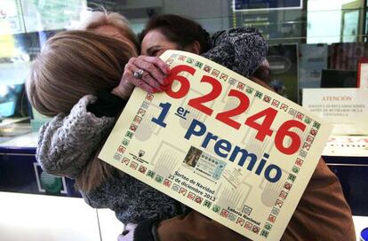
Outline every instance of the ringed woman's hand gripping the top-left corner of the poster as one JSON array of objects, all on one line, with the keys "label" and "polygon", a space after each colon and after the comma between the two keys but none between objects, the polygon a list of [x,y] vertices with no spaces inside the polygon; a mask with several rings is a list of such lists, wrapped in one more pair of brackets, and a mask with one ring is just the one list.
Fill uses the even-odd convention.
[{"label": "ringed woman's hand gripping the top-left corner of the poster", "polygon": [[[142,72],[142,74],[134,76],[134,72]],[[112,90],[112,93],[127,99],[131,96],[135,86],[150,93],[164,91],[168,86],[165,77],[169,73],[169,66],[161,58],[148,56],[133,57],[125,65],[123,77],[119,85]]]}]

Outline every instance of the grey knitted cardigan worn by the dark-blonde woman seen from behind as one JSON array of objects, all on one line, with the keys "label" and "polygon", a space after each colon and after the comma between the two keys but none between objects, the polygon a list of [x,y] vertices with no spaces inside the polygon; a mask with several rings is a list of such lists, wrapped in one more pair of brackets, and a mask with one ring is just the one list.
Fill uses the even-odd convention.
[{"label": "grey knitted cardigan worn by the dark-blonde woman seen from behind", "polygon": [[[212,37],[212,50],[205,58],[248,76],[264,60],[267,44],[254,28],[221,31]],[[93,158],[101,140],[108,136],[113,118],[97,118],[86,111],[96,97],[83,97],[68,116],[59,114],[40,131],[36,159],[53,175],[75,178]],[[84,193],[92,207],[108,207],[124,223],[142,222],[150,218],[168,219],[188,213],[189,208],[164,193],[116,170],[99,187]]]}]

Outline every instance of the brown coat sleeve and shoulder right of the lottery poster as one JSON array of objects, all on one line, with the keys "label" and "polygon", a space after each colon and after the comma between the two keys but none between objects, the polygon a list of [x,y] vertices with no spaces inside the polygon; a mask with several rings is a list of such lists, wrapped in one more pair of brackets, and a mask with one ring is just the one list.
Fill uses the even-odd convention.
[{"label": "brown coat sleeve and shoulder right of the lottery poster", "polygon": [[320,159],[282,240],[355,240],[339,179]]}]

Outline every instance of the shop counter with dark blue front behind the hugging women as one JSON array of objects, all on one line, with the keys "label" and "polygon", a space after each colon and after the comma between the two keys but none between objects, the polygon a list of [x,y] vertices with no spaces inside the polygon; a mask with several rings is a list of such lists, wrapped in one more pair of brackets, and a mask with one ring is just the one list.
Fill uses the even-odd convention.
[{"label": "shop counter with dark blue front behind the hugging women", "polygon": [[[0,144],[0,191],[81,197],[73,180],[42,170],[35,158],[36,144],[35,132]],[[339,177],[353,214],[368,216],[368,156],[323,158]]]}]

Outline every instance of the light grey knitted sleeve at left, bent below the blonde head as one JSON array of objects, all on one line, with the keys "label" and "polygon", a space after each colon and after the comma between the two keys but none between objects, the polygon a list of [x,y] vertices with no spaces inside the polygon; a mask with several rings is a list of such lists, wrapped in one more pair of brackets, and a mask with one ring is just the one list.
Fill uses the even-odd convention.
[{"label": "light grey knitted sleeve at left, bent below the blonde head", "polygon": [[92,158],[114,124],[114,118],[96,118],[86,111],[86,106],[96,99],[81,98],[68,116],[59,113],[40,129],[36,159],[44,171],[76,178]]}]

